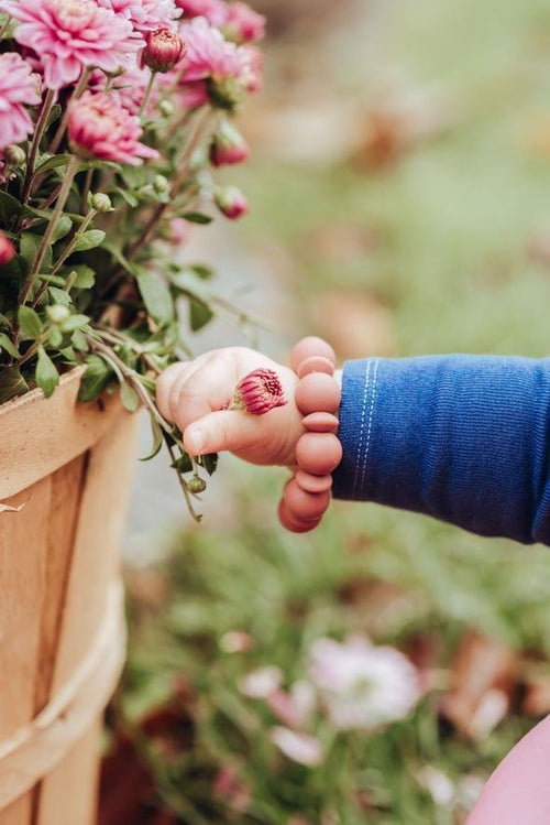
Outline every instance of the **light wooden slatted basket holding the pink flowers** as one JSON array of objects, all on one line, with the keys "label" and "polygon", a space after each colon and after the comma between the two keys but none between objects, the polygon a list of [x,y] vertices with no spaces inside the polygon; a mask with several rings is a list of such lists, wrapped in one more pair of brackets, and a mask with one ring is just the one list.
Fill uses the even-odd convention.
[{"label": "light wooden slatted basket holding the pink flowers", "polygon": [[124,660],[136,416],[118,395],[78,404],[80,376],[0,406],[0,825],[95,823],[101,716]]}]

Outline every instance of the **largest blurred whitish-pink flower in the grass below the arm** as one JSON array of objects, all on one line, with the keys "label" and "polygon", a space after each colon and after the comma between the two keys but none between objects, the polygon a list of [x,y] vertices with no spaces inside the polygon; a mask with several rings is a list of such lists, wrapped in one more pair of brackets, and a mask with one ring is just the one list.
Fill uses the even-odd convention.
[{"label": "largest blurred whitish-pink flower in the grass below the arm", "polygon": [[342,644],[318,639],[311,645],[309,673],[339,730],[403,719],[421,694],[418,672],[403,653],[362,637]]}]

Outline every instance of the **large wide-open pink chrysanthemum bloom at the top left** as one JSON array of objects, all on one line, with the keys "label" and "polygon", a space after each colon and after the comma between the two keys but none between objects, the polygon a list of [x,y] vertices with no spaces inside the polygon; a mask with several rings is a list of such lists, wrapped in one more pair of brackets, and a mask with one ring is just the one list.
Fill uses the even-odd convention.
[{"label": "large wide-open pink chrysanthemum bloom at the top left", "polygon": [[0,11],[19,22],[13,36],[38,56],[50,89],[87,67],[118,72],[143,44],[128,20],[91,0],[1,0]]}]

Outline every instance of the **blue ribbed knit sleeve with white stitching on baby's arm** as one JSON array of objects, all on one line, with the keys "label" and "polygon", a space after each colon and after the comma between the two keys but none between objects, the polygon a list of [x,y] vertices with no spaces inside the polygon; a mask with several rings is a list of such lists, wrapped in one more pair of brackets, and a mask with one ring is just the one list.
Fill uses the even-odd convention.
[{"label": "blue ribbed knit sleeve with white stitching on baby's arm", "polygon": [[334,496],[550,544],[550,359],[350,361]]}]

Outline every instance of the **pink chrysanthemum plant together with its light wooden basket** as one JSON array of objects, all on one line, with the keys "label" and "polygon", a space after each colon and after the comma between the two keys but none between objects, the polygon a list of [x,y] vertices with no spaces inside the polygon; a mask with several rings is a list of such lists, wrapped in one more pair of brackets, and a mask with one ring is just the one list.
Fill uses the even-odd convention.
[{"label": "pink chrysanthemum plant together with its light wooden basket", "polygon": [[[10,825],[94,818],[98,717],[123,650],[116,546],[130,413],[150,412],[153,454],[167,447],[191,512],[201,468],[215,468],[215,457],[191,460],[160,414],[155,377],[186,351],[184,308],[198,329],[217,307],[210,270],[177,262],[175,247],[213,211],[248,211],[213,172],[249,156],[233,116],[261,88],[263,33],[241,2],[0,0],[0,628],[13,639],[0,653],[13,675],[0,687],[0,812]],[[63,813],[59,783],[75,789]]]}]

